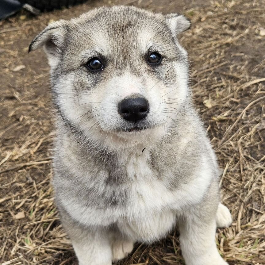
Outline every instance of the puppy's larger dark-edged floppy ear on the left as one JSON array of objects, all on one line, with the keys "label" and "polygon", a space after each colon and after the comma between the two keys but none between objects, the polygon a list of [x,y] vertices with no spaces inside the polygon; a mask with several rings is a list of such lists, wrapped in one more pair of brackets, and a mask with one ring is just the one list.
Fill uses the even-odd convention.
[{"label": "puppy's larger dark-edged floppy ear on the left", "polygon": [[29,52],[44,47],[49,65],[55,66],[63,50],[66,32],[65,21],[53,22],[31,41]]}]

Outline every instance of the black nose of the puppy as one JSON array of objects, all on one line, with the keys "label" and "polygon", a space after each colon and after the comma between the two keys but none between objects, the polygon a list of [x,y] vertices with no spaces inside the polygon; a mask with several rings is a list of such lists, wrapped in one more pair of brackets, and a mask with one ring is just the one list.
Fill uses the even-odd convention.
[{"label": "black nose of the puppy", "polygon": [[149,111],[149,104],[145,98],[127,98],[120,102],[119,113],[127,121],[140,121]]}]

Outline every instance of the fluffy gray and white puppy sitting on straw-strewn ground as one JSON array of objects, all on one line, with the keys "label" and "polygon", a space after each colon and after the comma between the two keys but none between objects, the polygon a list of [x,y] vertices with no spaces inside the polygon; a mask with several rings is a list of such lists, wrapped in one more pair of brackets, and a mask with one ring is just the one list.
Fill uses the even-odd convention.
[{"label": "fluffy gray and white puppy sitting on straw-strewn ground", "polygon": [[31,42],[51,66],[54,189],[80,265],[110,265],[136,241],[180,232],[187,265],[225,265],[219,170],[191,105],[178,14],[129,6],[52,22]]}]

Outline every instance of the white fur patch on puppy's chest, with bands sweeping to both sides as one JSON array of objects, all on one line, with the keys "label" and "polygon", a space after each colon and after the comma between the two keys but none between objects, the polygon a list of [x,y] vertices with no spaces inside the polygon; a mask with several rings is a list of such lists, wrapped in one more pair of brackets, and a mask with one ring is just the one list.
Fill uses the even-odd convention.
[{"label": "white fur patch on puppy's chest, with bands sweeping to both sides", "polygon": [[[187,205],[198,203],[209,186],[211,171],[202,161],[192,181],[177,189],[168,187],[167,178],[158,178],[151,169],[150,154],[135,153],[127,157],[126,169],[131,179],[128,198],[124,207],[106,209],[80,205],[79,201],[67,200],[64,207],[71,216],[84,225],[111,225],[117,223],[124,233],[135,240],[152,241],[166,234],[175,224],[178,214]],[[174,178],[173,173],[168,173]],[[126,184],[125,184],[126,185]]]}]

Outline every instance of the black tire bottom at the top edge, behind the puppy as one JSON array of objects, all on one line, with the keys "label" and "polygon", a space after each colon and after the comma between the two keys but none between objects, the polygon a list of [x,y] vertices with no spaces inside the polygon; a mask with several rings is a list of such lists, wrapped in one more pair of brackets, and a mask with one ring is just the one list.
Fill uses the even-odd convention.
[{"label": "black tire bottom at the top edge, behind the puppy", "polygon": [[52,11],[63,7],[82,4],[84,0],[20,0],[23,4],[29,4],[40,11]]}]

